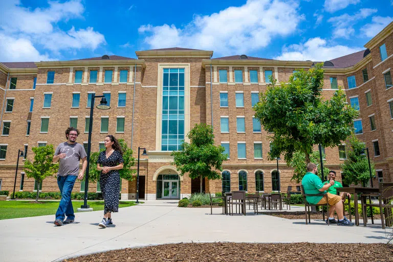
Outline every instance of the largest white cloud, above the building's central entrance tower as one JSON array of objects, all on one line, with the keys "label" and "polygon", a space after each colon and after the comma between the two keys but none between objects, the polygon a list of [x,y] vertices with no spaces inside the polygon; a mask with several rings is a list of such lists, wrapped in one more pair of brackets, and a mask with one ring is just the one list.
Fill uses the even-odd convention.
[{"label": "largest white cloud, above the building's central entrance tower", "polygon": [[268,46],[273,37],[293,34],[304,19],[297,9],[295,1],[249,0],[219,13],[194,15],[182,28],[142,25],[138,31],[146,34],[144,42],[152,49],[178,46],[241,54]]}]

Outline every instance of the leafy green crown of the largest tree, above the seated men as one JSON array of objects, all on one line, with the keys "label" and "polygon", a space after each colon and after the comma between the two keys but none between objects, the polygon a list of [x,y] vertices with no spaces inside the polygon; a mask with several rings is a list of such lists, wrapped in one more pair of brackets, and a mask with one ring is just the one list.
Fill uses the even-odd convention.
[{"label": "leafy green crown of the largest tree, above the seated men", "polygon": [[322,100],[321,67],[317,64],[309,71],[301,69],[279,86],[272,80],[266,93],[261,94],[254,110],[265,130],[274,133],[269,159],[283,154],[289,163],[299,151],[309,163],[314,145],[337,146],[351,134],[357,112],[347,104],[341,89],[330,100]]}]

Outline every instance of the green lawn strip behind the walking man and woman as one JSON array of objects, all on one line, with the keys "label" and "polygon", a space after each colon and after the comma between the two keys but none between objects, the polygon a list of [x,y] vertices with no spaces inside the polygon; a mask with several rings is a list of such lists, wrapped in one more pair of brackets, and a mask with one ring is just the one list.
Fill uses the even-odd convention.
[{"label": "green lawn strip behind the walking man and woman", "polygon": [[[17,217],[38,216],[38,215],[54,215],[59,206],[60,201],[0,201],[0,220],[16,219]],[[83,201],[72,201],[74,211],[83,204]],[[96,210],[104,209],[103,201],[88,201],[88,205]],[[119,207],[135,206],[135,202],[119,202]]]}]

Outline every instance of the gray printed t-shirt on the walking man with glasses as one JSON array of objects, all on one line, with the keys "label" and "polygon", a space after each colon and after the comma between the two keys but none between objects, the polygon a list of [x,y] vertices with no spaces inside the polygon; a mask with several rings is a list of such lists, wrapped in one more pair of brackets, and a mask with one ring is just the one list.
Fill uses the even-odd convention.
[{"label": "gray printed t-shirt on the walking man with glasses", "polygon": [[59,154],[66,154],[65,158],[59,159],[59,171],[57,176],[78,176],[79,161],[82,158],[87,157],[86,151],[81,144],[74,143],[69,144],[67,142],[61,143],[57,146],[55,156]]}]

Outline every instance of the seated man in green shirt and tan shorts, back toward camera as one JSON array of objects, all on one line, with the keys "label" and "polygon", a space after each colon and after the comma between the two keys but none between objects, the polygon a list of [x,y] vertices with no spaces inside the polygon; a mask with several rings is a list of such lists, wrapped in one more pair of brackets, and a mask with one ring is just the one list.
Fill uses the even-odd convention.
[{"label": "seated man in green shirt and tan shorts, back toward camera", "polygon": [[[328,184],[323,185],[322,180],[317,176],[318,168],[317,165],[314,163],[307,164],[307,173],[304,175],[303,179],[301,180],[301,184],[304,188],[305,194],[319,194],[321,192],[328,194],[328,203],[329,203],[329,217],[334,214],[336,211],[338,216],[338,221],[334,218],[331,220],[329,219],[329,223],[337,223],[338,226],[353,226],[354,224],[351,223],[344,217],[344,206],[341,201],[341,197],[336,194],[331,194],[326,192],[331,186],[334,185],[334,180],[329,181]],[[326,204],[326,199],[322,196],[306,196],[306,200],[312,204]],[[326,220],[326,223],[328,221]]]}]

